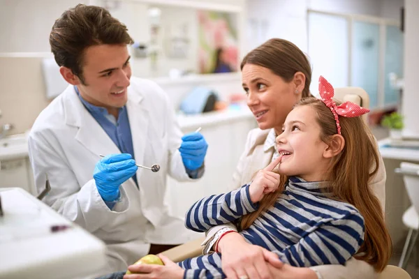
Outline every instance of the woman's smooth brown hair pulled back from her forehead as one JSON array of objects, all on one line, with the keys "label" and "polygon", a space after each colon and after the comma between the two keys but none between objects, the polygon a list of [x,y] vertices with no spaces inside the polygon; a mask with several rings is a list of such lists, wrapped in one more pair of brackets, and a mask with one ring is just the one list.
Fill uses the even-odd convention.
[{"label": "woman's smooth brown hair pulled back from her forehead", "polygon": [[272,70],[272,73],[282,77],[286,82],[291,82],[295,73],[305,75],[305,85],[302,98],[310,95],[311,65],[307,56],[288,40],[273,38],[251,50],[240,65],[243,70],[247,63]]}]

